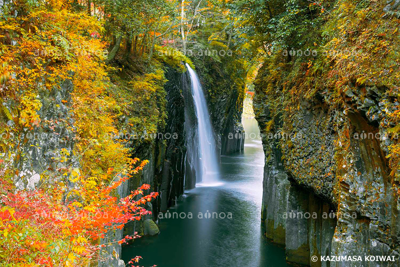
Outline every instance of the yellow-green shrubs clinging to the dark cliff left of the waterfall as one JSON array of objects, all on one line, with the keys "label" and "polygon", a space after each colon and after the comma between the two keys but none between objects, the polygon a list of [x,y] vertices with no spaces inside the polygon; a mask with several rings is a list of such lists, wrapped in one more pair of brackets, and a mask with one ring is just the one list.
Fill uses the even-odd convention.
[{"label": "yellow-green shrubs clinging to the dark cliff left of the waterfall", "polygon": [[[144,73],[111,73],[108,93],[116,100],[115,116],[120,133],[129,133],[135,142],[152,141],[151,134],[165,127],[166,82],[160,63],[153,62]],[[129,135],[126,135],[129,137]],[[138,137],[137,137],[138,136]]]}]

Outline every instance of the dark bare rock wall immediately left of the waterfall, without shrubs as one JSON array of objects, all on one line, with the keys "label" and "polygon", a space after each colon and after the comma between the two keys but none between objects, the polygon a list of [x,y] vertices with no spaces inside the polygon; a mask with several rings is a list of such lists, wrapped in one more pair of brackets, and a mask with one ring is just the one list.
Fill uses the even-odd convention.
[{"label": "dark bare rock wall immediately left of the waterfall, without shrubs", "polygon": [[174,68],[166,68],[164,85],[166,92],[166,111],[168,117],[162,132],[158,132],[152,142],[135,147],[135,156],[147,159],[149,163],[138,177],[128,181],[127,187],[133,190],[143,183],[151,185],[150,190],[157,191],[159,197],[146,209],[152,215],[146,215],[140,221],[129,222],[124,227],[125,234],[155,235],[159,232],[157,225],[149,220],[157,220],[159,212],[166,211],[174,204],[175,199],[183,193],[184,188],[193,188],[195,175],[185,175],[190,169],[190,157],[186,156],[185,132],[185,98],[183,94],[190,90],[190,79],[186,73]]}]

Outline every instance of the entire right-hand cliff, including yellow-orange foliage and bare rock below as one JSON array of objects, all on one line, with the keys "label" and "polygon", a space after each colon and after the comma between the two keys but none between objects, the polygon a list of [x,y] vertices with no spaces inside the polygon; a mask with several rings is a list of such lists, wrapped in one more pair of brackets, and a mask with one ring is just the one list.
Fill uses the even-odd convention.
[{"label": "entire right-hand cliff, including yellow-orange foliage and bare rock below", "polygon": [[[386,10],[398,6],[371,1],[354,11],[349,5],[355,4],[336,1],[317,21],[322,37],[273,51],[259,70],[254,111],[266,158],[262,220],[266,236],[285,244],[288,261],[398,266],[398,73],[389,69],[398,64],[399,20]],[[380,33],[383,23],[393,34]],[[337,25],[354,31],[349,36]],[[387,50],[372,49],[379,41]],[[304,56],[309,47],[313,53]],[[299,217],[307,212],[311,217]],[[362,261],[321,262],[320,255]],[[365,255],[394,260],[365,261]]]}]

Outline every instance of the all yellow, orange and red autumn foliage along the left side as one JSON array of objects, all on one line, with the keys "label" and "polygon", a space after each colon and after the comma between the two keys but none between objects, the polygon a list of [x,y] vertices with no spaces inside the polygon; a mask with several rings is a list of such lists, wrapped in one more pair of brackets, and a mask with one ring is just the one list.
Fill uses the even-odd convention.
[{"label": "all yellow, orange and red autumn foliage along the left side", "polygon": [[[15,1],[0,20],[0,262],[6,266],[88,266],[101,260],[102,237],[149,211],[157,193],[143,184],[120,197],[116,190],[147,163],[112,139],[115,100],[109,84],[101,25],[68,0],[45,4]],[[13,15],[17,14],[17,15]],[[18,164],[28,158],[29,141],[20,135],[43,123],[39,93],[70,80],[74,147],[62,148],[31,190],[15,187]],[[11,104],[5,104],[11,103]],[[22,136],[22,137],[20,137]],[[34,146],[34,144],[32,144]],[[37,147],[40,149],[40,147]],[[72,167],[73,160],[79,168]],[[123,243],[137,236],[125,236]]]}]

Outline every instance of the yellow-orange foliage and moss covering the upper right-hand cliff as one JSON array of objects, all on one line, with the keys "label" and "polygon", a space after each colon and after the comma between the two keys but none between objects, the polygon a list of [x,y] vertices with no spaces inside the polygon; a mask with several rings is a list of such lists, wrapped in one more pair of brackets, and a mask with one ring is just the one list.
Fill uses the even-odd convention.
[{"label": "yellow-orange foliage and moss covering the upper right-hand cliff", "polygon": [[[379,106],[391,110],[376,114],[381,130],[393,134],[400,123],[395,115],[397,108],[387,103],[396,101],[400,92],[400,19],[382,16],[385,2],[377,0],[336,0],[330,6],[328,13],[317,15],[324,17],[317,20],[318,34],[310,39],[307,34],[301,35],[299,47],[295,47],[303,51],[309,48],[316,54],[284,56],[282,49],[271,51],[254,81],[255,97],[262,97],[265,102],[255,114],[265,115],[264,108],[268,111],[269,117],[263,118],[266,132],[295,133],[304,117],[302,111],[307,108],[304,103],[324,105],[321,109],[328,112],[326,117],[315,121],[308,133],[334,129],[338,136],[335,141],[329,141],[332,143],[314,135],[301,144],[290,139],[282,139],[278,144],[285,168],[300,184],[311,186],[315,191],[330,190],[329,182],[334,177],[340,179],[342,171],[348,172],[350,128],[343,110],[359,112],[360,106],[355,102],[370,97],[368,90],[377,92],[374,100],[380,101]],[[352,97],[345,93],[349,88],[354,92]],[[387,100],[389,97],[391,100]],[[365,110],[366,115],[376,109],[377,105],[370,106]],[[279,123],[272,123],[276,121]],[[322,140],[319,146],[310,143],[313,138]],[[400,169],[400,144],[397,140],[393,142],[396,144],[387,148],[389,166],[395,174]],[[308,146],[313,146],[311,155]],[[298,159],[303,161],[300,163]],[[331,168],[325,171],[322,162]],[[341,169],[343,165],[347,166],[345,170]]]}]

